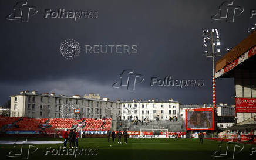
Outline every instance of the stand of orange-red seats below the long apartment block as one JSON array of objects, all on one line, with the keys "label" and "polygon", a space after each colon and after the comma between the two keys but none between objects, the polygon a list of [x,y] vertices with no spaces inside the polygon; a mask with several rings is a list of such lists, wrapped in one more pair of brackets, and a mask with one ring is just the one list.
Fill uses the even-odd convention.
[{"label": "stand of orange-red seats below the long apartment block", "polygon": [[54,131],[55,128],[82,128],[83,131],[107,131],[112,119],[0,117],[1,131]]}]

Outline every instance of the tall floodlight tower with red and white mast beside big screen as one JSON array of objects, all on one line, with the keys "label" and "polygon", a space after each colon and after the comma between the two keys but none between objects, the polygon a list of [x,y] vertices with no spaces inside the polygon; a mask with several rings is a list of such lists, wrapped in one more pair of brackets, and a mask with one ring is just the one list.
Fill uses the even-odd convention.
[{"label": "tall floodlight tower with red and white mast beside big screen", "polygon": [[213,108],[216,108],[215,94],[215,57],[221,56],[220,52],[220,35],[218,29],[203,30],[204,55],[213,58]]}]

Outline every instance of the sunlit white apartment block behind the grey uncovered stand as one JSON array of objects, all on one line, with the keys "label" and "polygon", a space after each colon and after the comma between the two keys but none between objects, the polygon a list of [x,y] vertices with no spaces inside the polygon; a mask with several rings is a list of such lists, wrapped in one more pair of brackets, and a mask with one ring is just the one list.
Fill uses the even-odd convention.
[{"label": "sunlit white apartment block behind the grey uncovered stand", "polygon": [[173,101],[172,99],[167,101],[155,101],[155,100],[133,100],[122,101],[122,120],[169,120],[178,117],[180,114],[180,103]]}]

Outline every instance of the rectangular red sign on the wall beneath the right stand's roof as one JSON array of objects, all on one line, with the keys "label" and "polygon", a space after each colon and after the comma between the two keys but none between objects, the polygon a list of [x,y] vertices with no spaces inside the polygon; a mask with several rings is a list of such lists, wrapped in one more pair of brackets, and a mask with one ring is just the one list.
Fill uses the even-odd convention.
[{"label": "rectangular red sign on the wall beneath the right stand's roof", "polygon": [[235,111],[241,113],[256,112],[256,98],[235,98]]}]

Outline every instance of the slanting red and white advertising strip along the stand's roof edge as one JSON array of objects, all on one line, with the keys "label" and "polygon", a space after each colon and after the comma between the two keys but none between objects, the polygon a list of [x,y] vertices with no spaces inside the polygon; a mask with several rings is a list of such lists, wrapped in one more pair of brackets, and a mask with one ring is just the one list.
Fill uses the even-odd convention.
[{"label": "slanting red and white advertising strip along the stand's roof edge", "polygon": [[225,66],[223,69],[216,72],[216,78],[222,76],[224,73],[227,73],[231,69],[233,69],[238,64],[244,62],[245,60],[249,59],[251,56],[256,54],[256,46],[252,47],[249,51],[245,52],[243,55],[235,59],[233,62]]}]

